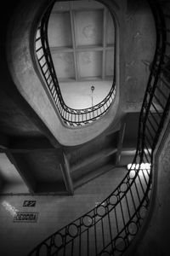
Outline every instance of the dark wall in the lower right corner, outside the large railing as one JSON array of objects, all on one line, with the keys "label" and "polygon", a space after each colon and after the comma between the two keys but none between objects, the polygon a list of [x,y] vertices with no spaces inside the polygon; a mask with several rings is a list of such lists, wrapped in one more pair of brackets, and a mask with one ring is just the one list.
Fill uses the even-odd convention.
[{"label": "dark wall in the lower right corner, outside the large railing", "polygon": [[[168,128],[167,134],[170,131]],[[136,256],[167,256],[169,255],[170,232],[170,134],[161,148],[156,163],[157,181],[155,206],[144,238],[140,240]]]}]

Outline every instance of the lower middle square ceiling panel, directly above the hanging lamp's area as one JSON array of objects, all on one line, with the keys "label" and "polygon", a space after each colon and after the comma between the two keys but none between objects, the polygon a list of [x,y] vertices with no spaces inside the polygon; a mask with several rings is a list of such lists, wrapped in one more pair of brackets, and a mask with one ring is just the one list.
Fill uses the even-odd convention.
[{"label": "lower middle square ceiling panel, directly above the hanging lamp's area", "polygon": [[86,77],[101,77],[102,68],[102,52],[101,51],[84,51],[77,53],[77,65],[79,76]]}]

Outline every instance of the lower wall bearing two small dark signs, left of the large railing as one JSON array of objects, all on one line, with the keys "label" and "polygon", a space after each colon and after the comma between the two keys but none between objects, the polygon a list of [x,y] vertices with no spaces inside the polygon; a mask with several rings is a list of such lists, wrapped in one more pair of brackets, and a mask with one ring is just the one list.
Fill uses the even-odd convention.
[{"label": "lower wall bearing two small dark signs, left of the large railing", "polygon": [[[0,254],[27,255],[47,236],[103,201],[126,172],[125,169],[112,169],[77,189],[73,196],[1,196]],[[23,207],[25,200],[36,200],[36,207]],[[15,223],[14,214],[17,211],[38,212],[37,223]]]}]

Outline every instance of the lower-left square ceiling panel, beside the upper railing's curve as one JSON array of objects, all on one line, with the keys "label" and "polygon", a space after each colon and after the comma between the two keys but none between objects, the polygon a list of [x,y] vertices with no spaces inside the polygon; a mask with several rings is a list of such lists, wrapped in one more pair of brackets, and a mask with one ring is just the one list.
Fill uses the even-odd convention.
[{"label": "lower-left square ceiling panel, beside the upper railing's curve", "polygon": [[59,79],[74,79],[75,68],[73,53],[59,52],[53,55],[55,72]]}]

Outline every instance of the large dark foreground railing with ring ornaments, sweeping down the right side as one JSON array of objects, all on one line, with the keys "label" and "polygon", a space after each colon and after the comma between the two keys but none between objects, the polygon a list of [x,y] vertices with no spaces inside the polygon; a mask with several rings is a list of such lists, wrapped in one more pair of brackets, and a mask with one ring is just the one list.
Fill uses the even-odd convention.
[{"label": "large dark foreground railing with ring ornaments, sweeping down the right side", "polygon": [[29,255],[122,255],[150,205],[152,159],[170,106],[170,15],[167,1],[149,0],[156,22],[156,53],[139,116],[136,154],[127,175],[97,207],[48,236]]}]

